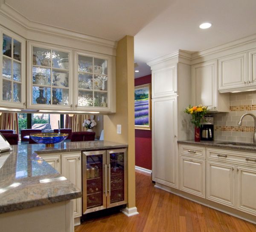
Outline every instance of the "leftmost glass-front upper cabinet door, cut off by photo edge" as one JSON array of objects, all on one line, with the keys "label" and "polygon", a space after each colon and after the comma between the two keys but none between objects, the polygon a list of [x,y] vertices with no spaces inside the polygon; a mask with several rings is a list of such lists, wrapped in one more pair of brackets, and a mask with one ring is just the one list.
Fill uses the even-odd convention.
[{"label": "leftmost glass-front upper cabinet door, cut off by photo edge", "polygon": [[0,106],[25,108],[25,40],[0,28]]}]

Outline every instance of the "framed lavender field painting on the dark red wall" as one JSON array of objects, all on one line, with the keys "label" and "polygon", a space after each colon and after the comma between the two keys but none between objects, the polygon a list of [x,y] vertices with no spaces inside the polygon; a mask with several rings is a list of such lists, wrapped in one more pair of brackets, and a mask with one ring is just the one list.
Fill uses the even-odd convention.
[{"label": "framed lavender field painting on the dark red wall", "polygon": [[135,129],[151,130],[150,84],[135,86]]}]

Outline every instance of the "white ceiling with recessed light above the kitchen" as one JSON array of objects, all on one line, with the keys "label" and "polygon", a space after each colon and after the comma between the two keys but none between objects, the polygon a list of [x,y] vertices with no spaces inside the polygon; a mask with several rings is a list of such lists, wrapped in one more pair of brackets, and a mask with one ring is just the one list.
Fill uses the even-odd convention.
[{"label": "white ceiling with recessed light above the kitchen", "polygon": [[[145,62],[178,49],[201,51],[256,34],[256,0],[6,0],[34,22],[118,41],[134,36],[134,59]],[[209,21],[212,28],[202,30]]]}]

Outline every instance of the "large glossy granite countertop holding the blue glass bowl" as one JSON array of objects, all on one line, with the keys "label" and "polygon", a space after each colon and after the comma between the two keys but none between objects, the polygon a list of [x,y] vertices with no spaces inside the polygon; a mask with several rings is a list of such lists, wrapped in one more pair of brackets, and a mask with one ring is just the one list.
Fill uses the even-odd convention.
[{"label": "large glossy granite countertop holding the blue glass bowl", "polygon": [[0,153],[0,213],[67,201],[82,196],[74,184],[58,173],[41,154],[127,147],[109,141],[20,144]]}]

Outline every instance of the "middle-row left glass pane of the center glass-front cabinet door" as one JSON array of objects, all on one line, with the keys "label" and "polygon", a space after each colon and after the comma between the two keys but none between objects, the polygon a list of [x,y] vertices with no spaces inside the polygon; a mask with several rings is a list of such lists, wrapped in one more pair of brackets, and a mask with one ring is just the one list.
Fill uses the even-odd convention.
[{"label": "middle-row left glass pane of the center glass-front cabinet door", "polygon": [[51,70],[33,66],[33,85],[50,85]]}]

